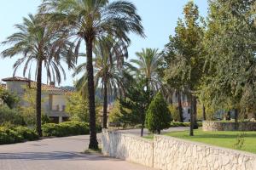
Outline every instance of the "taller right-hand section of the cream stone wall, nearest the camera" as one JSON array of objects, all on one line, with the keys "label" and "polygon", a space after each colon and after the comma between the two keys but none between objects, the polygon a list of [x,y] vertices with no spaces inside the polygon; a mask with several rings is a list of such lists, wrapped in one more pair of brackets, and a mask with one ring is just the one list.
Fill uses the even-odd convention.
[{"label": "taller right-hand section of the cream stone wall, nearest the camera", "polygon": [[256,156],[166,136],[154,136],[154,167],[161,170],[253,170]]}]

